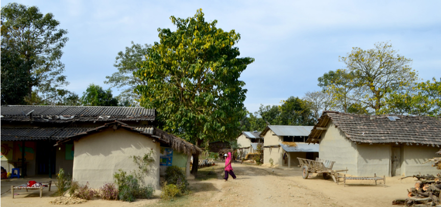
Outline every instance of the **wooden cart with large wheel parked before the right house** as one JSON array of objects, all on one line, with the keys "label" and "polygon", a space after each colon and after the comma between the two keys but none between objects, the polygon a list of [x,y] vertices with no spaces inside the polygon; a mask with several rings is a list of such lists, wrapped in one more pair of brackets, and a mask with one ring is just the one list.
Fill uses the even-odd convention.
[{"label": "wooden cart with large wheel parked before the right house", "polygon": [[307,179],[309,173],[322,174],[324,179],[329,179],[332,177],[335,183],[337,183],[338,175],[337,172],[348,171],[346,170],[332,170],[334,161],[316,158],[314,160],[308,160],[304,158],[297,158],[300,163],[300,168],[302,169],[303,179]]}]

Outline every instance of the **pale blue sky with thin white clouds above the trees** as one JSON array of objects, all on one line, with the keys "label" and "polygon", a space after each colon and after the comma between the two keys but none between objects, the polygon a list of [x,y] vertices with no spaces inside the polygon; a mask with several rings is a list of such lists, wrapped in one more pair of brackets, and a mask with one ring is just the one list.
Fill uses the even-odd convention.
[{"label": "pale blue sky with thin white clouds above the trees", "polygon": [[240,34],[240,57],[255,59],[240,76],[250,112],[320,90],[318,77],[345,67],[339,56],[377,42],[389,41],[412,59],[421,79],[441,77],[441,1],[12,2],[53,13],[68,31],[61,59],[70,82],[66,89],[80,96],[91,83],[110,87],[106,75],[117,71],[115,57],[131,41],[158,42],[158,28],[176,30],[170,16],[187,18],[200,8],[206,21],[216,19],[217,28]]}]

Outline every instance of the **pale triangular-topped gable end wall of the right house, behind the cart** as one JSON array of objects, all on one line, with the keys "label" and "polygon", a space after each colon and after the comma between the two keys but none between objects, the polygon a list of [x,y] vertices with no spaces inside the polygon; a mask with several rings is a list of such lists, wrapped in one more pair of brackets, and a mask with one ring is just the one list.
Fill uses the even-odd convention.
[{"label": "pale triangular-topped gable end wall of the right house, behind the cart", "polygon": [[318,146],[319,156],[322,159],[335,161],[332,169],[340,170],[348,168],[347,174],[357,175],[356,145],[346,138],[335,125],[330,121],[327,130],[321,135]]}]

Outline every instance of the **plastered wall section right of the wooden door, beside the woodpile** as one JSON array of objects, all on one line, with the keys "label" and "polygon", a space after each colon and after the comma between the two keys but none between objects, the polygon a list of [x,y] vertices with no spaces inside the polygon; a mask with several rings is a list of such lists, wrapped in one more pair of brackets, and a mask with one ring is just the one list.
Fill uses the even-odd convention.
[{"label": "plastered wall section right of the wooden door, beside the woodpile", "polygon": [[[433,162],[426,162],[428,159],[439,157],[435,152],[439,149],[432,146],[403,146],[401,173],[404,176],[420,174],[436,175],[440,171],[432,167]],[[404,173],[404,174],[403,174]]]}]

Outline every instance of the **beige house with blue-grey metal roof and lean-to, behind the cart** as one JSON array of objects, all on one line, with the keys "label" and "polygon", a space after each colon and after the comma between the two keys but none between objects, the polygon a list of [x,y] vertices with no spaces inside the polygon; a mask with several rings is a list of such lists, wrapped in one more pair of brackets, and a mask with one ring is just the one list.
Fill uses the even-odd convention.
[{"label": "beige house with blue-grey metal roof and lean-to, behind the cart", "polygon": [[263,137],[263,165],[273,159],[275,167],[299,165],[297,158],[315,160],[318,144],[305,143],[313,126],[268,125],[260,133]]}]

